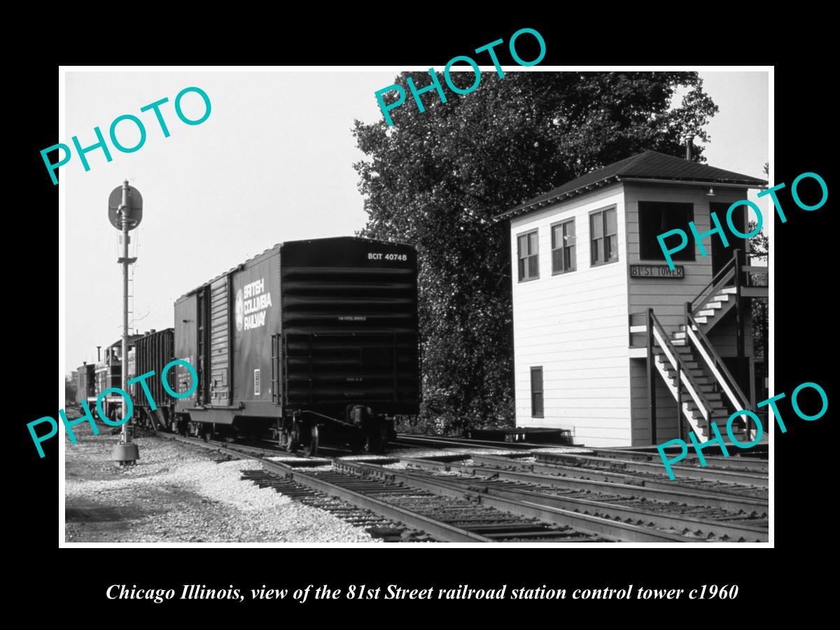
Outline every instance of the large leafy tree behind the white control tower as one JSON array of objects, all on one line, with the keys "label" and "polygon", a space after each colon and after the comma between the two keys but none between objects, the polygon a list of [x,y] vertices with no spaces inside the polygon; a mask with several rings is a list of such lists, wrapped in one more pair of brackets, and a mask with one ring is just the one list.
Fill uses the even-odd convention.
[{"label": "large leafy tree behind the white control tower", "polygon": [[[469,87],[466,75],[454,80]],[[394,82],[407,76],[430,82],[423,72]],[[486,72],[445,103],[423,94],[423,113],[407,93],[393,127],[355,121],[366,156],[354,165],[368,214],[360,235],[417,246],[422,417],[442,430],[510,423],[510,244],[493,217],[643,150],[682,156],[682,135],[707,140],[717,106],[694,72]],[[694,153],[704,160],[702,147]]]}]

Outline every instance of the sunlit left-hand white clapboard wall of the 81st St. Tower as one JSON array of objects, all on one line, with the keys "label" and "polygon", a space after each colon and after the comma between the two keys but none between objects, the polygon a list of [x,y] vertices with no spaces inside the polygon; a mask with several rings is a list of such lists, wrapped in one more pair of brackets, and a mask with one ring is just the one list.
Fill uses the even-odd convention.
[{"label": "sunlit left-hand white clapboard wall of the 81st St. Tower", "polygon": [[[618,260],[590,265],[589,214],[616,207]],[[576,269],[552,275],[551,224],[575,218]],[[627,248],[622,185],[511,222],[514,370],[518,427],[568,428],[575,442],[631,440],[627,363]],[[538,228],[539,278],[519,282],[517,235]],[[531,417],[531,368],[543,368],[542,418]]]}]

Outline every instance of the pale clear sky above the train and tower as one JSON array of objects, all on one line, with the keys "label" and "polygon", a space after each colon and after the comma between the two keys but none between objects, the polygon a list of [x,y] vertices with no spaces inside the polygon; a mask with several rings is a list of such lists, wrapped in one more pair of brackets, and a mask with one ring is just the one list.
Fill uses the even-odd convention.
[{"label": "pale clear sky above the train and tower", "polygon": [[[483,68],[482,68],[483,70]],[[488,69],[490,70],[490,69]],[[507,71],[507,67],[505,68]],[[764,178],[769,161],[766,72],[701,72],[720,112],[711,119],[707,164]],[[84,171],[74,153],[60,167],[65,195],[65,370],[97,358],[97,345],[122,334],[122,267],[118,231],[108,222],[108,195],[124,179],[143,196],[143,221],[132,234],[134,296],[131,327],[143,333],[172,326],[176,298],[274,244],[354,234],[365,225],[364,199],[353,164],[363,158],[351,130],[355,118],[381,118],[374,92],[394,71],[67,71],[66,138],[108,138],[114,118],[144,122],[145,144],[120,153],[108,139],[87,153]],[[187,125],[174,101],[200,87],[210,116]],[[171,133],[165,138],[151,102]],[[187,118],[204,112],[187,94]],[[119,123],[119,141],[133,146],[139,131]],[[559,185],[560,182],[558,182]],[[751,198],[755,200],[754,192]],[[761,204],[759,204],[761,205]],[[764,206],[763,206],[764,207]],[[134,332],[133,330],[133,332]]]}]

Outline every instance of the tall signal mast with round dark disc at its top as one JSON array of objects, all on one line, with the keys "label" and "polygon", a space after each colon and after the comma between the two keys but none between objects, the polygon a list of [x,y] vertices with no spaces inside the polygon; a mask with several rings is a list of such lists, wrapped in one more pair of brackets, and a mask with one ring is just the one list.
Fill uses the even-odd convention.
[{"label": "tall signal mast with round dark disc at its top", "polygon": [[[128,395],[129,391],[129,265],[137,259],[129,258],[129,230],[136,228],[143,218],[143,197],[129,181],[123,181],[123,186],[117,186],[108,197],[108,219],[114,228],[123,233],[123,255],[117,259],[123,265],[123,356],[122,356],[122,387]],[[129,414],[129,402],[123,398],[123,418]],[[119,444],[114,445],[111,459],[119,465],[133,465],[140,459],[137,444],[132,444],[129,433],[129,423],[123,424]]]}]

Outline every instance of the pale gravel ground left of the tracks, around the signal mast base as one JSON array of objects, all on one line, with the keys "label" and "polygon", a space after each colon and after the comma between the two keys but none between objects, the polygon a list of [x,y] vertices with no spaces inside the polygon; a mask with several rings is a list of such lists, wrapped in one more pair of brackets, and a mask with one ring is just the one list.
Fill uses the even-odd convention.
[{"label": "pale gravel ground left of the tracks, around the signal mast base", "polygon": [[138,465],[111,461],[117,436],[77,425],[66,442],[68,543],[371,543],[378,542],[328,512],[271,488],[240,480],[259,470],[247,459],[215,463],[200,447],[137,438]]}]

